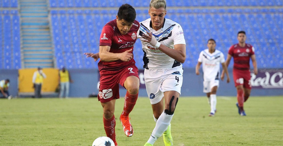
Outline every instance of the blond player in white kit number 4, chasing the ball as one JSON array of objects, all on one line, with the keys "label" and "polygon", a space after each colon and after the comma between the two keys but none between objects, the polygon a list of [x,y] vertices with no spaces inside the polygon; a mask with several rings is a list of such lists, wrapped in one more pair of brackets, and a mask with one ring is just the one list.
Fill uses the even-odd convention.
[{"label": "blond player in white kit number 4, chasing the ball", "polygon": [[149,15],[140,22],[139,38],[144,51],[145,86],[156,126],[145,146],[153,145],[162,134],[169,146],[173,145],[170,122],[181,94],[186,43],[182,27],[164,18],[165,0],[151,0]]}]

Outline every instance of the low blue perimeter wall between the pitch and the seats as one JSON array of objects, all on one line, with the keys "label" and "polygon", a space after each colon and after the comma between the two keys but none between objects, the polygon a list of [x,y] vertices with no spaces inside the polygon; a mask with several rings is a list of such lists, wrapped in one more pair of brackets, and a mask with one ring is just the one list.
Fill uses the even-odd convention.
[{"label": "low blue perimeter wall between the pitch and the seats", "polygon": [[[273,69],[274,70],[274,69]],[[278,70],[278,69],[277,69]],[[280,69],[282,73],[282,69]],[[69,69],[69,73],[72,77],[74,83],[70,84],[70,97],[88,97],[91,93],[98,93],[97,83],[99,81],[99,72],[97,69]],[[142,77],[143,70],[140,70],[141,87],[139,91],[140,96],[147,96],[146,89],[143,83]],[[231,82],[226,83],[220,81],[220,86],[217,91],[218,96],[236,96],[236,90],[234,87],[232,69],[229,69],[229,75]],[[272,76],[272,74],[271,74]],[[195,75],[195,69],[189,68],[184,69],[183,74],[183,86],[181,96],[205,96],[203,93],[203,79],[202,75]],[[17,69],[1,69],[0,79],[10,79],[10,94],[16,96],[18,93],[18,70]],[[270,77],[271,78],[271,77]],[[277,76],[276,82],[278,80],[283,80],[279,75]],[[280,79],[279,79],[280,78]],[[258,79],[258,77],[257,77]],[[264,79],[264,78],[262,78]],[[282,82],[282,81],[281,81]],[[282,86],[282,85],[280,85]],[[123,97],[126,90],[120,86],[120,96]],[[251,91],[252,96],[273,96],[273,95],[283,95],[282,88],[258,88],[253,87]]]}]

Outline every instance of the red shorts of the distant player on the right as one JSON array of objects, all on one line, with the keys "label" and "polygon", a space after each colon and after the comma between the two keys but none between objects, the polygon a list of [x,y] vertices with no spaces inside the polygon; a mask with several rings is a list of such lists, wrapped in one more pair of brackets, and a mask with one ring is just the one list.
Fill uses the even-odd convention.
[{"label": "red shorts of the distant player on the right", "polygon": [[252,89],[250,84],[250,71],[249,70],[239,70],[233,69],[233,79],[235,82],[235,87],[238,85],[243,85],[244,88]]}]

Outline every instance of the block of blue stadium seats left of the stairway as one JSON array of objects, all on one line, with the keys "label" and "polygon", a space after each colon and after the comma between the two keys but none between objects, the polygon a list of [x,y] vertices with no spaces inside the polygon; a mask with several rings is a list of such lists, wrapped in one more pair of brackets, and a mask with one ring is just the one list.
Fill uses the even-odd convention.
[{"label": "block of blue stadium seats left of the stairway", "polygon": [[0,8],[0,68],[21,68],[20,18],[16,0],[1,0]]}]

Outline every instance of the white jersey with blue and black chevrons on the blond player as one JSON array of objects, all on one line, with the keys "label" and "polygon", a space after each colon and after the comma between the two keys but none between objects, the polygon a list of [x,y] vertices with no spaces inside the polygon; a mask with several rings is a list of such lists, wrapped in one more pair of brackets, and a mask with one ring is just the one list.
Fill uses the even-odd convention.
[{"label": "white jersey with blue and black chevrons on the blond player", "polygon": [[[151,19],[146,19],[145,21],[140,22],[140,33],[138,38],[144,40],[141,35],[151,32],[155,39],[160,42],[162,45],[165,45],[171,49],[174,49],[176,44],[186,44],[184,38],[184,32],[178,23],[164,18],[163,27],[159,30],[154,30],[151,27]],[[147,42],[142,43],[142,49],[144,52],[143,56],[143,68],[146,69],[168,69],[176,66],[180,66],[181,63],[177,60],[174,60],[170,56],[166,55],[156,47],[153,47]]]}]

